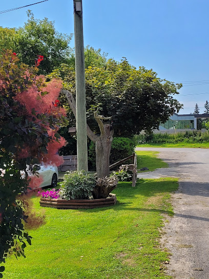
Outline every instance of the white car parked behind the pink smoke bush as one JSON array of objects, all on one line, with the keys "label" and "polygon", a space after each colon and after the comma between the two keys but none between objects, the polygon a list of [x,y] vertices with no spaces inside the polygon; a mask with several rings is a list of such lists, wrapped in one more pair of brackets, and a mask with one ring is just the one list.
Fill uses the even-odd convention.
[{"label": "white car parked behind the pink smoke bush", "polygon": [[[44,164],[35,165],[36,172],[38,173],[38,176],[40,175],[43,178],[43,183],[38,188],[51,186],[52,188],[55,188],[57,186],[58,181],[58,169],[56,166],[46,166]],[[33,166],[27,167],[27,172],[30,175],[32,174]],[[20,171],[22,175],[25,175],[24,171]]]}]

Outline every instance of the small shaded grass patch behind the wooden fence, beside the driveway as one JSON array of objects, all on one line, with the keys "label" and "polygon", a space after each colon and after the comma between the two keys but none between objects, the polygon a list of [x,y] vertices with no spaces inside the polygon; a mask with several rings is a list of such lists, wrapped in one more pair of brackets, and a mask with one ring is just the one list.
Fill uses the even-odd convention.
[{"label": "small shaded grass patch behind the wooden fence, beside the driveway", "polygon": [[[147,167],[149,171],[167,168],[168,164],[157,157],[157,151],[135,151],[137,154],[137,169]],[[142,171],[138,171],[142,172]],[[144,172],[144,171],[143,171]]]}]

